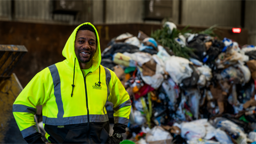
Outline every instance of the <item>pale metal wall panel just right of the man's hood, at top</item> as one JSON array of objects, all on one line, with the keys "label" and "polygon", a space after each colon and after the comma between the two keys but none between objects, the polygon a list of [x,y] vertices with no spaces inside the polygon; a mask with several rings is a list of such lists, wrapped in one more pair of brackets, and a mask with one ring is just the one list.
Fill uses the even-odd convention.
[{"label": "pale metal wall panel just right of the man's hood, at top", "polygon": [[142,17],[143,0],[93,0],[94,23],[141,23]]}]

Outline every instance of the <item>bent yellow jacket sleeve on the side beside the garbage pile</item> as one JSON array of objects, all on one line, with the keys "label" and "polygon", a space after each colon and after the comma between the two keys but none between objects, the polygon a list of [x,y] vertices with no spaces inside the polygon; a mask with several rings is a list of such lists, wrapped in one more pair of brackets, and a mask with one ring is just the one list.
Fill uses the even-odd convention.
[{"label": "bent yellow jacket sleeve on the side beside the garbage pile", "polygon": [[125,127],[127,127],[129,123],[131,100],[129,94],[113,71],[111,71],[109,89],[110,95],[108,101],[112,102],[114,105],[114,133],[124,133],[126,132]]}]

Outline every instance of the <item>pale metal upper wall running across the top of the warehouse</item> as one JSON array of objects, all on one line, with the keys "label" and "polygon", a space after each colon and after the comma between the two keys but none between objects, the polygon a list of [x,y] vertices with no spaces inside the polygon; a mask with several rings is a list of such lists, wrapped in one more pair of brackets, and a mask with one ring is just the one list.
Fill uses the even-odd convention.
[{"label": "pale metal upper wall running across the top of the warehouse", "polygon": [[[61,0],[65,1],[65,0]],[[78,25],[90,21],[102,23],[161,23],[144,21],[146,0],[81,0],[83,11],[76,16],[53,14],[53,0],[0,0],[0,20]],[[169,0],[150,0],[169,1]],[[177,25],[206,26],[215,24],[240,27],[242,1],[245,0],[173,0],[171,21]],[[12,10],[14,2],[14,10]],[[256,45],[256,1],[245,1],[245,28],[248,44]]]}]

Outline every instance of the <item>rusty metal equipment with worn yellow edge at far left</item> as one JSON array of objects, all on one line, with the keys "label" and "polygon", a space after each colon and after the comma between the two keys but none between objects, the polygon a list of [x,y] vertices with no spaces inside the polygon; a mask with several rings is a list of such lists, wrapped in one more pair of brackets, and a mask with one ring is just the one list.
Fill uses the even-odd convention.
[{"label": "rusty metal equipment with worn yellow edge at far left", "polygon": [[12,114],[13,102],[23,89],[12,71],[26,52],[22,45],[0,45],[0,143],[27,143]]}]

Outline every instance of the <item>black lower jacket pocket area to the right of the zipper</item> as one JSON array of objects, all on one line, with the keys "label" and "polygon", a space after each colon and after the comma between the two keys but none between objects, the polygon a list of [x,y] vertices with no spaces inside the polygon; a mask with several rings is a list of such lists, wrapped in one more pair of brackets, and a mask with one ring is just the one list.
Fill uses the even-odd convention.
[{"label": "black lower jacket pocket area to the right of the zipper", "polygon": [[93,143],[105,144],[107,142],[109,134],[103,126],[92,125],[90,130],[90,138]]}]

